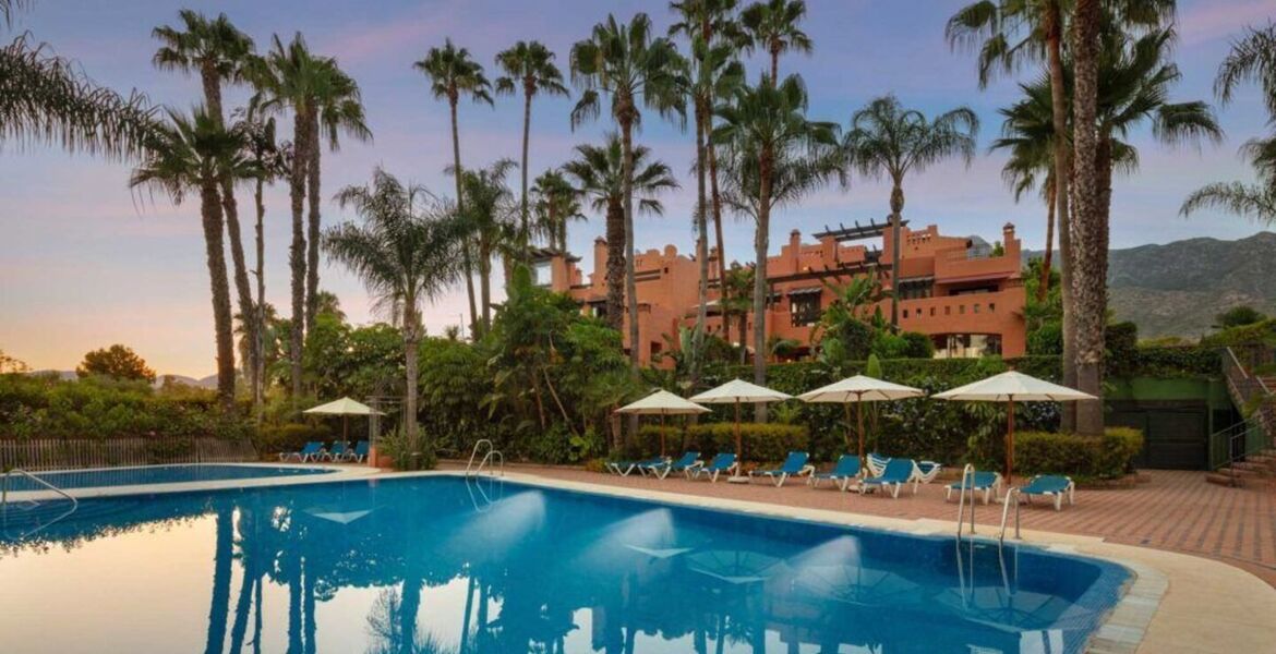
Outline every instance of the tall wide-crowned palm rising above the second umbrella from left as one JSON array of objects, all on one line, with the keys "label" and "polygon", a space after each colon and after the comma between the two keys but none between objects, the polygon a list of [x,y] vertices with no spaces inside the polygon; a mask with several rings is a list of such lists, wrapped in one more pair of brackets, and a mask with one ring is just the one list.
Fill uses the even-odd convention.
[{"label": "tall wide-crowned palm rising above the second umbrella from left", "polygon": [[[628,24],[614,15],[593,25],[590,38],[572,46],[572,79],[584,92],[572,110],[572,126],[598,116],[601,94],[611,97],[611,117],[620,127],[624,181],[625,294],[629,298],[629,361],[637,374],[641,351],[638,288],[634,279],[634,145],[633,129],[642,120],[641,102],[661,116],[685,112],[680,75],[684,65],[674,43],[652,38],[651,19],[635,14]],[[609,238],[612,235],[609,232]],[[610,240],[609,240],[610,243]],[[609,289],[610,294],[610,289]]]}]

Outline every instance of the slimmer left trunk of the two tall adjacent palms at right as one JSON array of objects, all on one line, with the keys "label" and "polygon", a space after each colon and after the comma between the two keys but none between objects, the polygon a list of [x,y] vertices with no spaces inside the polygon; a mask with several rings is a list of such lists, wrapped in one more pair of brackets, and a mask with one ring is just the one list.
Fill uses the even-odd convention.
[{"label": "slimmer left trunk of the two tall adjacent palms at right", "polygon": [[[1059,0],[1050,0],[1045,15],[1046,57],[1050,66],[1050,120],[1054,127],[1054,215],[1059,223],[1059,296],[1063,305],[1063,384],[1077,385],[1076,358],[1076,315],[1077,307],[1072,300],[1072,214],[1069,186],[1072,178],[1072,157],[1068,149],[1068,97],[1064,89],[1063,74],[1063,9]],[[1049,275],[1049,272],[1046,272]],[[1046,277],[1049,279],[1049,277]],[[1063,431],[1076,428],[1076,405],[1063,403]]]}]

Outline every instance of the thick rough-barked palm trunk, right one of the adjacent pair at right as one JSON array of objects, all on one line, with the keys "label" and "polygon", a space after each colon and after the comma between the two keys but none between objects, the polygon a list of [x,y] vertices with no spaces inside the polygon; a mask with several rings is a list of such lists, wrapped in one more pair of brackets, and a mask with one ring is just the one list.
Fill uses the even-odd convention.
[{"label": "thick rough-barked palm trunk, right one of the adjacent pair at right", "polygon": [[[1077,0],[1073,24],[1074,84],[1073,154],[1076,201],[1073,215],[1073,278],[1077,303],[1077,389],[1102,395],[1104,323],[1108,309],[1108,224],[1100,209],[1099,134],[1099,0]],[[1077,403],[1077,433],[1102,433],[1101,402]]]}]

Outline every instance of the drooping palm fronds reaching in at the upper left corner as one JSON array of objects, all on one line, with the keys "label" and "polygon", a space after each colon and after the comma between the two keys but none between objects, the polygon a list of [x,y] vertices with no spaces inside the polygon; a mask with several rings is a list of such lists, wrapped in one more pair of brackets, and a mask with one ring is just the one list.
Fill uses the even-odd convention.
[{"label": "drooping palm fronds reaching in at the upper left corner", "polygon": [[[0,0],[8,27],[26,0]],[[0,47],[0,140],[47,143],[68,152],[128,159],[147,154],[158,122],[147,97],[98,87],[27,34]]]}]

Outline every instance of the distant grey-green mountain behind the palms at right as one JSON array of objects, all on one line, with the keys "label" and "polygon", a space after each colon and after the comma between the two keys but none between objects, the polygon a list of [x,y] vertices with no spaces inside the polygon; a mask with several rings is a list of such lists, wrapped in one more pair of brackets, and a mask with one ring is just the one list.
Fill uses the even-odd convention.
[{"label": "distant grey-green mountain behind the palms at right", "polygon": [[1116,319],[1137,324],[1141,338],[1197,338],[1238,305],[1276,315],[1276,233],[1113,250],[1108,288]]}]

